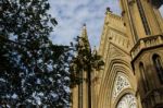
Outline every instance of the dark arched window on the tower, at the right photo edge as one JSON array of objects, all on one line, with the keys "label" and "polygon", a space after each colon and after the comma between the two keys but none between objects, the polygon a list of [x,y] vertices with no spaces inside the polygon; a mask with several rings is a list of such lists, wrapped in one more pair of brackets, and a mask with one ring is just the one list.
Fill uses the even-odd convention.
[{"label": "dark arched window on the tower, at the right photo edge", "polygon": [[163,84],[163,62],[159,55],[154,55],[152,59],[153,59],[153,64],[156,70],[159,80],[161,84]]}]

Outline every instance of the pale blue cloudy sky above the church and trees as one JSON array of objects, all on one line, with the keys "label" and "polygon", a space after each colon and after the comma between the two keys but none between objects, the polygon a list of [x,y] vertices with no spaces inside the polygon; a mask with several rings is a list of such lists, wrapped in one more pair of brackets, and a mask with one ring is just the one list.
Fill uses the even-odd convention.
[{"label": "pale blue cloudy sky above the church and trees", "polygon": [[[51,34],[54,44],[70,45],[73,38],[87,24],[88,38],[91,46],[99,46],[102,33],[105,9],[120,14],[118,0],[49,0],[50,13],[57,19],[58,26]],[[161,9],[163,12],[163,8]]]}]

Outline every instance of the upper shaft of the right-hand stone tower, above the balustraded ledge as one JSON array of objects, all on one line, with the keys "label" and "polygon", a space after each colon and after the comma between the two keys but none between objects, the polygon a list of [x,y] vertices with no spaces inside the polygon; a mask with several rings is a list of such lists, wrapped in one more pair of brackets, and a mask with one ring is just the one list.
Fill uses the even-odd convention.
[{"label": "upper shaft of the right-hand stone tower, above the balustraded ledge", "polygon": [[[159,7],[162,0],[120,0],[122,17],[127,25],[130,41],[135,45],[140,38],[163,33]],[[160,1],[160,2],[159,2]]]}]

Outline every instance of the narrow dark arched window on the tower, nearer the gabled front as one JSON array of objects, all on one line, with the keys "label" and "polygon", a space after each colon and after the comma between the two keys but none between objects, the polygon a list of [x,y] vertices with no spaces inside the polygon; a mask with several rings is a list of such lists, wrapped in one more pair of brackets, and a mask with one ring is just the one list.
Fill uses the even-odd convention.
[{"label": "narrow dark arched window on the tower, nearer the gabled front", "polygon": [[139,70],[140,70],[140,75],[142,77],[142,86],[145,88],[145,93],[147,93],[149,89],[149,85],[148,85],[148,80],[146,77],[146,71],[142,62],[139,63]]}]

